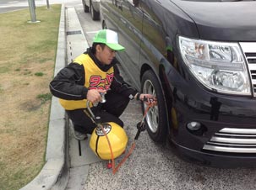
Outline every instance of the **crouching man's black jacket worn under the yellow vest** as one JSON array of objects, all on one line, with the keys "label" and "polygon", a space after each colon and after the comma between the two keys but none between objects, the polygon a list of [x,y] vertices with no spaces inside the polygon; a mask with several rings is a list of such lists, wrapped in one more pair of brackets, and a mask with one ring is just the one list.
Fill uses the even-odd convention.
[{"label": "crouching man's black jacket worn under the yellow vest", "polygon": [[[90,58],[95,62],[102,71],[107,71],[111,66],[114,66],[114,78],[111,85],[112,92],[123,94],[124,96],[133,99],[137,93],[133,87],[123,81],[120,72],[117,68],[117,59],[114,58],[110,65],[103,65],[98,61],[91,52],[91,48],[86,50],[84,54],[90,55]],[[88,88],[84,87],[84,66],[72,62],[57,73],[52,82],[50,82],[50,90],[52,95],[57,98],[66,100],[82,100],[86,99]]]}]

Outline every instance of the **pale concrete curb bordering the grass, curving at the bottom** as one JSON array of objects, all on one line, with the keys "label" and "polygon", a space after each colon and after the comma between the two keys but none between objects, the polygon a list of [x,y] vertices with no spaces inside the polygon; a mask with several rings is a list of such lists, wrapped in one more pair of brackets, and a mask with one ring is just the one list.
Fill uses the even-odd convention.
[{"label": "pale concrete curb bordering the grass, curving at the bottom", "polygon": [[[65,5],[62,4],[59,24],[57,56],[54,76],[66,65]],[[41,172],[20,190],[64,189],[68,182],[68,151],[65,111],[57,98],[52,97],[49,131],[46,147],[46,164]],[[60,180],[61,178],[61,180]]]}]

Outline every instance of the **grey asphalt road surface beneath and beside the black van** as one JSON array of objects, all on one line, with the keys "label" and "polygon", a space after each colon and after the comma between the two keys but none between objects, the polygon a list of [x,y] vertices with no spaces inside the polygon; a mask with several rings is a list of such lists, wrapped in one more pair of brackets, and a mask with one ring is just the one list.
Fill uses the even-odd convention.
[{"label": "grey asphalt road surface beneath and beside the black van", "polygon": [[[74,7],[86,39],[91,45],[95,31],[101,29],[101,22],[92,21],[90,13],[84,13],[79,1],[74,4]],[[125,124],[124,129],[129,136],[129,145],[131,145],[137,131],[135,124],[141,119],[139,103],[132,101],[121,118]],[[255,176],[256,169],[253,168],[220,169],[182,161],[173,154],[169,145],[155,145],[147,132],[144,132],[136,141],[133,155],[128,158],[128,161],[115,175],[112,174],[111,170],[106,169],[106,162],[104,161],[91,164],[84,190],[253,190],[256,189]]]}]

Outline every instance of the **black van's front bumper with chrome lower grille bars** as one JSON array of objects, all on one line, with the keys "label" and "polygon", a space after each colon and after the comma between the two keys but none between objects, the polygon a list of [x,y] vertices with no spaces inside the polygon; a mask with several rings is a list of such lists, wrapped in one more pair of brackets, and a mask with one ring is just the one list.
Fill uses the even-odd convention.
[{"label": "black van's front bumper with chrome lower grille bars", "polygon": [[[172,124],[171,139],[180,155],[209,166],[256,166],[254,98],[211,94],[190,86],[193,90],[184,93],[189,94],[187,98],[179,94],[172,108],[176,126]],[[218,110],[214,110],[212,97],[221,103]],[[192,122],[200,124],[200,129],[189,129]]]}]

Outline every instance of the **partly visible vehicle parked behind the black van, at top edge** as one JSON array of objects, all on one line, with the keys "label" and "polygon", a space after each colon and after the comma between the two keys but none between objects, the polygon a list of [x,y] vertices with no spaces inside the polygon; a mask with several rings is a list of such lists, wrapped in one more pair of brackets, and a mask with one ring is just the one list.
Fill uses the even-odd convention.
[{"label": "partly visible vehicle parked behind the black van, at top edge", "polygon": [[93,20],[100,20],[101,0],[82,0],[84,13],[89,13]]}]

